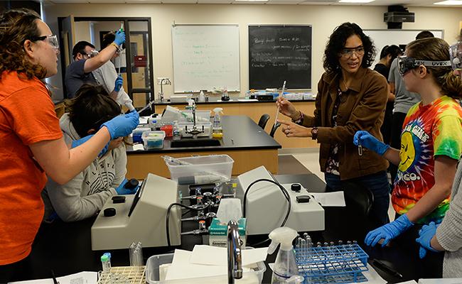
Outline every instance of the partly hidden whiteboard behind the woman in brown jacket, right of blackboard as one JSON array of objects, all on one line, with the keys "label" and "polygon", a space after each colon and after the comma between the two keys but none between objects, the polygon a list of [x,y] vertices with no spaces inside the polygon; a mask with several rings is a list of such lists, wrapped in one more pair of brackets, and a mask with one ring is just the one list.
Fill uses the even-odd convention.
[{"label": "partly hidden whiteboard behind the woman in brown jacket, right of blackboard", "polygon": [[[412,40],[416,39],[417,33],[424,30],[363,30],[366,35],[374,41],[375,48],[377,48],[377,55],[375,56],[372,68],[380,60],[380,51],[385,45],[407,45]],[[436,38],[444,38],[443,30],[428,30],[435,35]]]}]

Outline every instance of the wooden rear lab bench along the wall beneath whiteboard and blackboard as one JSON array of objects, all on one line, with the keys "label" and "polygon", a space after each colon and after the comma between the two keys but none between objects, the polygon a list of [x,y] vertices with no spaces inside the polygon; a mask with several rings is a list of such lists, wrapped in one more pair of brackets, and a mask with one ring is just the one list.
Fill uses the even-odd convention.
[{"label": "wooden rear lab bench along the wall beneath whiteboard and blackboard", "polygon": [[[315,109],[314,99],[302,99],[291,101],[292,104],[303,111],[307,115],[313,115]],[[156,113],[161,114],[163,109],[167,106],[178,107],[184,109],[186,102],[155,102]],[[239,101],[238,99],[232,98],[232,101],[228,102],[198,102],[195,104],[199,110],[212,110],[215,107],[221,107],[225,115],[245,115],[249,116],[255,123],[258,123],[262,114],[269,114],[270,118],[265,128],[269,133],[271,131],[274,119],[276,118],[276,102],[274,101]],[[290,121],[289,117],[279,114],[279,119]],[[307,138],[287,138],[280,129],[276,131],[274,139],[281,144],[282,148],[318,148],[318,143],[312,139]]]}]

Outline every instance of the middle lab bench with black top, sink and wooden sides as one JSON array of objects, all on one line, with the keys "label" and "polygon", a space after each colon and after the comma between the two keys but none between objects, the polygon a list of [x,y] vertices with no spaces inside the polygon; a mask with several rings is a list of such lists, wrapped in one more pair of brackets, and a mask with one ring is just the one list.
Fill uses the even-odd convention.
[{"label": "middle lab bench with black top, sink and wooden sides", "polygon": [[[222,116],[223,138],[220,146],[172,147],[174,140],[165,139],[163,148],[133,151],[127,148],[127,177],[143,179],[148,173],[170,178],[170,172],[161,156],[173,158],[190,155],[227,154],[235,161],[232,175],[240,175],[264,165],[271,173],[278,169],[278,149],[281,145],[264,132],[248,116]],[[188,138],[188,141],[189,138]],[[198,138],[198,143],[204,141]]]}]

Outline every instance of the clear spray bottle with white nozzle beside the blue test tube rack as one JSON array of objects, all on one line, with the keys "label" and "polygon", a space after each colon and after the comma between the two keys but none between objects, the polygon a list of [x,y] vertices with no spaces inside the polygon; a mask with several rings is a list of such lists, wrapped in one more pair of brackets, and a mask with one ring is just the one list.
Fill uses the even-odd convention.
[{"label": "clear spray bottle with white nozzle beside the blue test tube rack", "polygon": [[269,233],[269,239],[272,239],[272,242],[269,245],[268,254],[274,253],[277,246],[281,244],[273,267],[272,284],[293,283],[293,276],[299,274],[292,247],[292,241],[296,236],[297,232],[286,226],[276,228]]}]

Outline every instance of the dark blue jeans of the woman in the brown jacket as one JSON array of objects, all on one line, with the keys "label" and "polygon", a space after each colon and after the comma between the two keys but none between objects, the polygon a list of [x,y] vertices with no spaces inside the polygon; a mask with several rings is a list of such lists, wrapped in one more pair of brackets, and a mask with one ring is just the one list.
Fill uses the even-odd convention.
[{"label": "dark blue jeans of the woman in the brown jacket", "polygon": [[[325,173],[324,176],[326,178],[326,184],[328,187],[331,187],[332,190],[343,190],[340,176],[331,173]],[[390,205],[390,184],[388,183],[387,172],[384,170],[379,173],[353,178],[348,181],[358,182],[372,192],[372,195],[374,195],[374,204],[372,204],[370,214],[377,220],[380,226],[389,223],[388,206]]]}]

